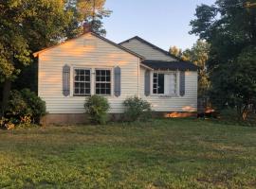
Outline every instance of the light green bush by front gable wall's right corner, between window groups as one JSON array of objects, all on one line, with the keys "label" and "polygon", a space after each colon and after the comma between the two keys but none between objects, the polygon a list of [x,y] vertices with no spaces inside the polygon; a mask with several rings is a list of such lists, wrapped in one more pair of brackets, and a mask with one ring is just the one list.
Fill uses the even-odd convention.
[{"label": "light green bush by front gable wall's right corner, between window groups", "polygon": [[134,96],[124,100],[125,119],[128,121],[147,120],[152,117],[151,104]]}]

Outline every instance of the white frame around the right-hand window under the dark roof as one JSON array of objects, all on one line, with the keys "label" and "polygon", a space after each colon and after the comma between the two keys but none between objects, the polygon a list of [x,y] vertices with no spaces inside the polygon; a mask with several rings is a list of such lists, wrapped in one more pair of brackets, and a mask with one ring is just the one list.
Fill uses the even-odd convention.
[{"label": "white frame around the right-hand window under the dark roof", "polygon": [[[154,94],[154,74],[163,74],[164,77],[165,75],[171,75],[174,74],[175,75],[175,94]],[[179,96],[179,71],[153,71],[152,72],[152,79],[151,79],[151,95],[153,96]],[[165,78],[164,78],[165,79]],[[165,83],[164,83],[165,85]],[[164,89],[165,91],[165,89]]]}]

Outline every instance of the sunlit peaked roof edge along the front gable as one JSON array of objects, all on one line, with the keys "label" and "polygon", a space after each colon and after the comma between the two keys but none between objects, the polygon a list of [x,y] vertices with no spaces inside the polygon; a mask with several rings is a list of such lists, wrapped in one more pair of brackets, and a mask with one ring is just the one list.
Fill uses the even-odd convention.
[{"label": "sunlit peaked roof edge along the front gable", "polygon": [[[114,43],[114,42],[112,42],[112,41],[110,41],[110,40],[108,40],[108,39],[106,39],[106,38],[104,38],[104,37],[102,37],[102,36],[96,34],[95,32],[92,32],[92,31],[90,31],[90,32],[88,32],[88,33],[84,33],[84,34],[82,34],[82,35],[80,35],[80,36],[78,36],[78,37],[76,37],[76,38],[67,40],[67,41],[65,41],[64,43],[68,43],[68,42],[74,41],[74,40],[76,40],[76,39],[78,39],[78,38],[81,38],[81,37],[84,36],[84,35],[87,35],[87,34],[91,34],[91,35],[93,35],[93,36],[95,36],[95,37],[97,37],[97,38],[100,38],[102,41],[104,41],[104,42],[106,42],[106,43],[110,43],[110,44],[112,44],[112,45],[118,47],[119,49],[121,49],[121,50],[123,50],[123,51],[126,51],[127,53],[130,53],[130,54],[136,56],[136,57],[139,58],[139,59],[142,59],[142,60],[145,59],[145,58],[142,57],[141,55],[138,55],[137,53],[135,53],[135,52],[133,52],[133,51],[131,51],[131,50],[129,50],[129,49],[127,49],[127,48],[125,48],[125,47],[119,45],[118,43]],[[33,56],[34,56],[34,57],[38,57],[41,53],[46,52],[47,50],[52,49],[52,48],[55,48],[55,47],[57,47],[57,46],[59,46],[59,45],[62,45],[62,44],[64,44],[64,43],[58,43],[58,44],[55,44],[55,45],[50,46],[50,47],[48,47],[48,48],[45,48],[45,49],[43,49],[43,50],[41,50],[41,51],[35,52],[35,53],[33,53]]]}]

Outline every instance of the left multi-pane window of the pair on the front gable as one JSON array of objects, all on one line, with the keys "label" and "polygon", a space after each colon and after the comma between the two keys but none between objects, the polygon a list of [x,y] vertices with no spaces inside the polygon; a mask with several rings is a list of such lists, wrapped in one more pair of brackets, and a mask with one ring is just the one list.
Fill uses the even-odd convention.
[{"label": "left multi-pane window of the pair on the front gable", "polygon": [[74,69],[74,95],[91,95],[90,69]]}]

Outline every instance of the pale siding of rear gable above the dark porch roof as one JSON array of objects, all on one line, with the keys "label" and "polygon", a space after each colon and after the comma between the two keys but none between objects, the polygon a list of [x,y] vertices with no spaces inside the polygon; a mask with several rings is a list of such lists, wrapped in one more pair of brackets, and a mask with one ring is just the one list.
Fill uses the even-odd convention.
[{"label": "pale siding of rear gable above the dark porch roof", "polygon": [[171,56],[164,54],[163,52],[153,48],[151,45],[142,43],[137,39],[130,40],[129,42],[121,43],[125,48],[136,52],[138,55],[143,56],[147,60],[167,60],[174,61]]}]

